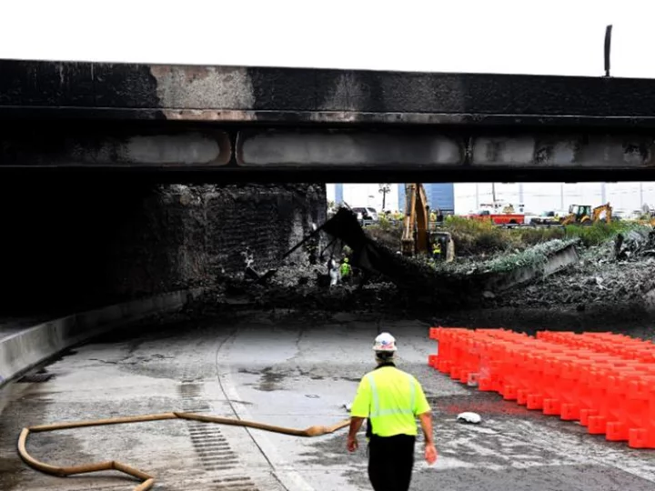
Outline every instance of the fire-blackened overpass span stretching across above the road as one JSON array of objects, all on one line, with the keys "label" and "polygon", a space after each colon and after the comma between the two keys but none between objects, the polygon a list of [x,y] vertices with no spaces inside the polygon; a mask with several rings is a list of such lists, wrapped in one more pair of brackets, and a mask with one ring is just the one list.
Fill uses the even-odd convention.
[{"label": "fire-blackened overpass span stretching across above the road", "polygon": [[0,167],[31,178],[66,170],[176,182],[655,174],[655,80],[644,79],[0,60],[0,120],[11,122]]}]

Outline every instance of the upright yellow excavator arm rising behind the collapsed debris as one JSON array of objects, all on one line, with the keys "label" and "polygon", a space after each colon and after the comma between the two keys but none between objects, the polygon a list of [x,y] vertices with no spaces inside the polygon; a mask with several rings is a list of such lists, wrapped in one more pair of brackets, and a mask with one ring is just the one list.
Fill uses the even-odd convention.
[{"label": "upright yellow excavator arm rising behind the collapsed debris", "polygon": [[403,255],[414,256],[428,252],[428,223],[428,198],[423,185],[420,183],[405,185],[405,219],[403,220],[402,235]]}]

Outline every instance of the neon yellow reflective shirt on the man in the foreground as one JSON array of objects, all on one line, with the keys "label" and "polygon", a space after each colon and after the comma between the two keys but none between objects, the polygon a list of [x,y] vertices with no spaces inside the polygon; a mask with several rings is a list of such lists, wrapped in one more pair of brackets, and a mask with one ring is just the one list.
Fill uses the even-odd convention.
[{"label": "neon yellow reflective shirt on the man in the foreground", "polygon": [[350,416],[368,417],[373,435],[418,434],[416,418],[430,406],[418,380],[395,366],[382,366],[359,382]]}]

